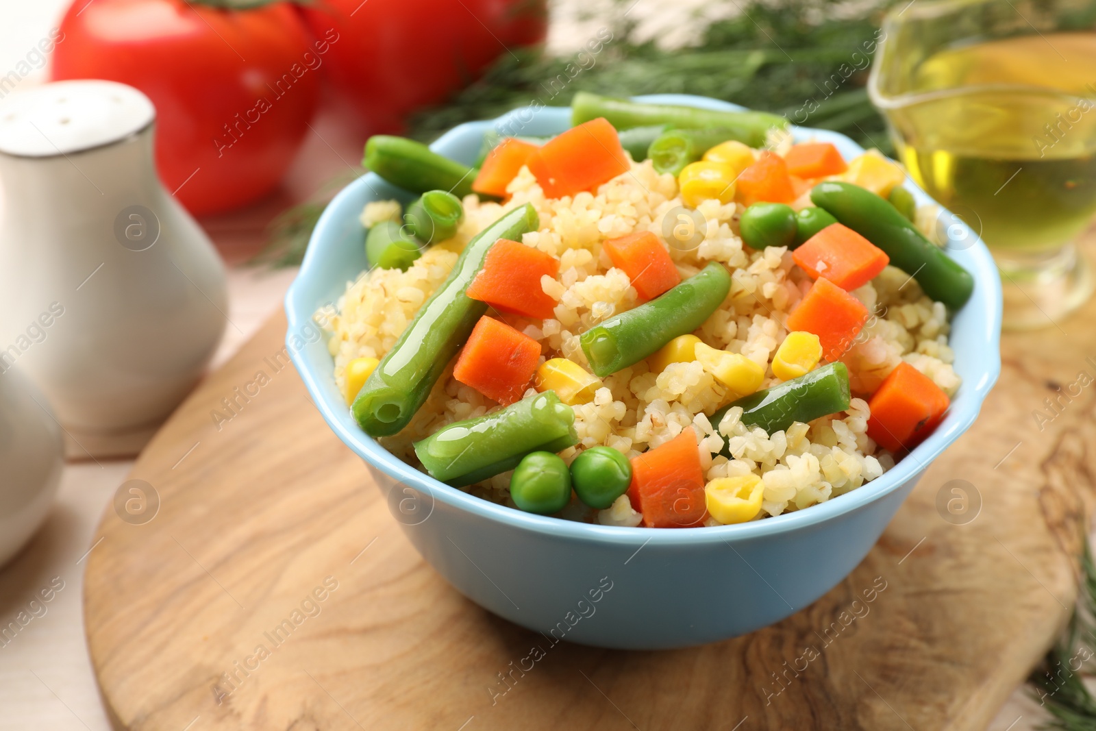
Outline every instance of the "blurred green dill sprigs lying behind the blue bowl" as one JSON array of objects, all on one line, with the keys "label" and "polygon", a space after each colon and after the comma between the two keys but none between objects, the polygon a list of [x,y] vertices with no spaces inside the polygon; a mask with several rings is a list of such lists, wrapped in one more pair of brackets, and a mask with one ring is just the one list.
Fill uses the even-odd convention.
[{"label": "blurred green dill sprigs lying behind the blue bowl", "polygon": [[[858,3],[855,13],[837,0],[713,0],[741,11],[708,25],[697,44],[673,49],[638,41],[636,23],[624,13],[633,0],[616,2],[618,11],[605,24],[612,41],[597,54],[502,54],[447,103],[414,115],[408,134],[431,140],[463,122],[489,119],[534,100],[566,106],[578,91],[686,93],[785,114],[796,124],[841,132],[864,147],[892,152],[864,88],[872,57],[866,48],[874,49],[889,0]],[[258,261],[299,263],[321,209],[322,203],[311,201],[282,214]]]}]

